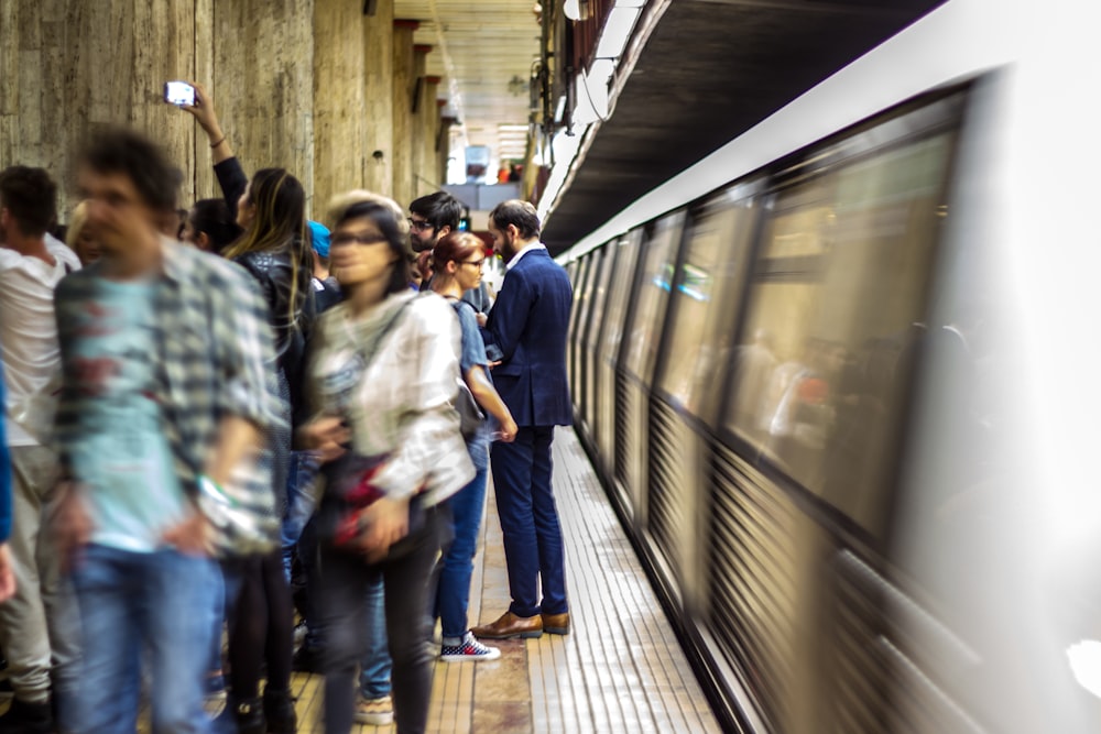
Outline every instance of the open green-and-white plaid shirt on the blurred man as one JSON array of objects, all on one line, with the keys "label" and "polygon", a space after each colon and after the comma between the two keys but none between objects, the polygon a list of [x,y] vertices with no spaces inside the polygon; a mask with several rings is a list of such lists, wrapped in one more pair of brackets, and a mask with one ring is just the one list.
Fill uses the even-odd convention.
[{"label": "open green-and-white plaid shirt on the blurred man", "polygon": [[[253,280],[239,266],[198,250],[162,239],[163,267],[156,288],[156,401],[164,413],[164,431],[172,447],[175,472],[195,496],[217,440],[222,416],[240,416],[262,432],[279,424],[277,395],[266,387],[275,353],[268,326],[268,306]],[[94,396],[79,390],[75,364],[77,316],[96,294],[97,264],[65,277],[54,295],[62,353],[62,395],[56,438],[68,473],[70,454],[85,430],[80,415]],[[270,470],[251,469],[242,489],[251,507],[274,505]],[[79,480],[79,476],[74,478]]]}]

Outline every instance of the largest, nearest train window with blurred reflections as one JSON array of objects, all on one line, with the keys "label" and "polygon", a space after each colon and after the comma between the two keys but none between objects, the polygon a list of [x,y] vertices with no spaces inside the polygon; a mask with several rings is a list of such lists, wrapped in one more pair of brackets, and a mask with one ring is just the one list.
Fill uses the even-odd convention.
[{"label": "largest, nearest train window with blurred reflections", "polygon": [[734,355],[728,427],[876,534],[951,139],[778,193]]}]

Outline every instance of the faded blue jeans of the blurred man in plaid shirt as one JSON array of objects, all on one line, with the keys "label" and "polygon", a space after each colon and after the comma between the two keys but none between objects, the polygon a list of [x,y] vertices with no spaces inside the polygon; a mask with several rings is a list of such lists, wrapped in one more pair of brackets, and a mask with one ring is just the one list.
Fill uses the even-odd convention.
[{"label": "faded blue jeans of the blurred man in plaid shirt", "polygon": [[152,668],[152,731],[210,731],[203,710],[217,567],[175,550],[91,545],[73,570],[84,636],[78,732],[132,734],[141,653]]}]

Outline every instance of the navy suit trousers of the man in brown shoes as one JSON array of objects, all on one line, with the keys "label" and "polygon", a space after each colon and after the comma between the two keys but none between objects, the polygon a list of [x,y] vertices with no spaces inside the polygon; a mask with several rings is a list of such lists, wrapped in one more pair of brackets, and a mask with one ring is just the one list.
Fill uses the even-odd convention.
[{"label": "navy suit trousers of the man in brown shoes", "polygon": [[550,487],[553,440],[554,426],[524,426],[515,441],[498,441],[490,453],[512,593],[509,611],[517,616],[569,609],[562,527]]}]

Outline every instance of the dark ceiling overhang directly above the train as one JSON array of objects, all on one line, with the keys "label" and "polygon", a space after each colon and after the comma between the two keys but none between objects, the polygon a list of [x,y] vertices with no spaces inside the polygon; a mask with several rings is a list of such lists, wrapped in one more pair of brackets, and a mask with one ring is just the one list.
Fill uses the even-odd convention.
[{"label": "dark ceiling overhang directly above the train", "polygon": [[940,0],[673,0],[547,218],[555,253]]}]

